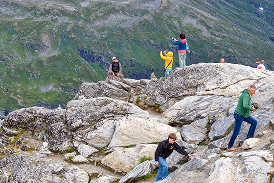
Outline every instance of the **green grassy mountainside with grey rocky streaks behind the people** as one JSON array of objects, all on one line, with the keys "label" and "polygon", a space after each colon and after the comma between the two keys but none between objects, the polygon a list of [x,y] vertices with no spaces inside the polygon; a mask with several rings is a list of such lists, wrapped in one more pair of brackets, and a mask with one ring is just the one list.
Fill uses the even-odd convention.
[{"label": "green grassy mountainside with grey rocky streaks behind the people", "polygon": [[[2,0],[0,108],[66,104],[82,82],[104,80],[112,56],[126,78],[163,76],[160,50],[186,34],[187,64],[274,69],[273,0]],[[263,10],[260,10],[262,7]],[[174,67],[175,67],[174,66]]]}]

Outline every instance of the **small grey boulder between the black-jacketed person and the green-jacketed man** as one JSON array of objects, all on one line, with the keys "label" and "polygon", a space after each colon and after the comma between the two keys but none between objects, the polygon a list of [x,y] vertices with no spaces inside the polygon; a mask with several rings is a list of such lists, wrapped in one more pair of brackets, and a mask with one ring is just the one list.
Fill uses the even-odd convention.
[{"label": "small grey boulder between the black-jacketed person and the green-jacketed man", "polygon": [[197,120],[190,125],[184,125],[180,132],[183,140],[189,144],[199,144],[205,140],[207,131],[206,125],[208,122],[208,119],[204,118]]}]

